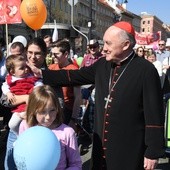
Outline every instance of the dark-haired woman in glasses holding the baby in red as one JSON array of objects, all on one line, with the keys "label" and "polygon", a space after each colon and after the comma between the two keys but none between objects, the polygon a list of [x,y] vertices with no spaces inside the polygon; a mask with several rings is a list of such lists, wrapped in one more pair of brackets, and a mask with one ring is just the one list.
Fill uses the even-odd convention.
[{"label": "dark-haired woman in glasses holding the baby in red", "polygon": [[[41,68],[43,70],[47,70],[47,64],[45,61],[45,57],[47,54],[47,48],[44,40],[40,37],[36,37],[31,39],[26,47],[26,56],[27,62],[30,65],[33,65],[37,68]],[[59,86],[55,86],[55,91],[59,98],[61,106],[63,106],[63,93],[62,89]],[[11,103],[12,105],[16,106],[22,103],[26,103],[28,101],[29,95],[14,95],[15,100]],[[8,139],[7,139],[7,146],[6,146],[6,156],[5,156],[5,170],[13,170],[15,169],[15,163],[13,159],[13,143],[17,139],[16,134],[13,131],[9,131]]]}]

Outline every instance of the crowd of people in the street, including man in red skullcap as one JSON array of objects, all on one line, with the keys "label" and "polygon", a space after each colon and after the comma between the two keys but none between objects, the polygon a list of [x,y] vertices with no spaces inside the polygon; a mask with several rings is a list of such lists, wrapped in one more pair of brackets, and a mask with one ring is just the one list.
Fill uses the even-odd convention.
[{"label": "crowd of people in the street, including man in red skullcap", "polygon": [[7,111],[1,114],[9,128],[5,170],[16,168],[17,137],[36,125],[51,129],[61,143],[56,169],[82,169],[80,120],[92,136],[93,170],[154,170],[165,157],[166,42],[160,40],[156,51],[134,49],[135,30],[124,21],[110,26],[103,41],[101,48],[90,40],[81,63],[68,39],[52,42],[49,35],[12,42],[8,56],[1,51],[0,101]]}]

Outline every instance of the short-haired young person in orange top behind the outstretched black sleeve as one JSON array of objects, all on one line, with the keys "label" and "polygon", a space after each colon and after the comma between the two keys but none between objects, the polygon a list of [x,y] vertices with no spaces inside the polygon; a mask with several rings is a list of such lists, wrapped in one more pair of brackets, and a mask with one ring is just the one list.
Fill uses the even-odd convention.
[{"label": "short-haired young person in orange top behind the outstretched black sleeve", "polygon": [[[68,60],[70,53],[70,43],[68,40],[61,39],[52,43],[51,52],[57,58],[57,64],[49,65],[50,70],[75,70],[78,69]],[[80,108],[81,91],[80,86],[63,87],[64,95],[64,123],[69,124],[71,117],[77,118]]]}]

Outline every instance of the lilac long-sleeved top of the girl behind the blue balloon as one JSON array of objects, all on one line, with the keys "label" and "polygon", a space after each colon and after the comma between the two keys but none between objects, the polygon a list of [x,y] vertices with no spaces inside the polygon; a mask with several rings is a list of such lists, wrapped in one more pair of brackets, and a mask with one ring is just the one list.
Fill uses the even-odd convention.
[{"label": "lilac long-sleeved top of the girl behind the blue balloon", "polygon": [[[28,125],[23,120],[19,127],[19,134],[26,129],[28,129]],[[61,157],[56,170],[81,170],[82,161],[74,130],[65,124],[61,124],[52,131],[61,144]]]}]

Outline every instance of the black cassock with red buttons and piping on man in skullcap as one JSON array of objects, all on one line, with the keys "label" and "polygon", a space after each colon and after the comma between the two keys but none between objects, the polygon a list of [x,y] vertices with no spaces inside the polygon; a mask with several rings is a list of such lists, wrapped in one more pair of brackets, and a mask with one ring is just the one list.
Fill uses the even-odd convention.
[{"label": "black cassock with red buttons and piping on man in skullcap", "polygon": [[[43,71],[43,81],[51,86],[95,84],[92,169],[142,170],[144,156],[164,156],[160,79],[145,59],[133,53],[116,65],[103,57],[76,71]],[[116,84],[105,108],[109,82]]]}]

